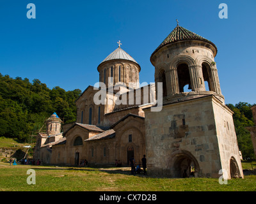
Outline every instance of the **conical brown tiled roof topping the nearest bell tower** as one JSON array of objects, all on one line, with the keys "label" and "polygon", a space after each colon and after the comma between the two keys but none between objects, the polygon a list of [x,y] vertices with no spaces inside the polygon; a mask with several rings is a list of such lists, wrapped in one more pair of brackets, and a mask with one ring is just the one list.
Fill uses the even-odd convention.
[{"label": "conical brown tiled roof topping the nearest bell tower", "polygon": [[214,43],[212,43],[211,41],[203,38],[202,36],[199,36],[198,34],[195,34],[191,31],[189,31],[188,29],[186,29],[184,27],[181,27],[181,26],[177,25],[177,27],[175,27],[175,29],[173,29],[172,33],[170,33],[164,39],[164,41],[159,45],[159,47],[156,48],[156,50],[153,52],[152,55],[154,55],[157,52],[157,50],[159,50],[161,47],[164,47],[164,45],[168,45],[170,43],[175,43],[177,41],[184,41],[184,40],[205,41],[207,43],[210,43],[214,48],[216,48],[216,52],[217,52],[217,47],[216,47],[216,45],[214,45]]}]

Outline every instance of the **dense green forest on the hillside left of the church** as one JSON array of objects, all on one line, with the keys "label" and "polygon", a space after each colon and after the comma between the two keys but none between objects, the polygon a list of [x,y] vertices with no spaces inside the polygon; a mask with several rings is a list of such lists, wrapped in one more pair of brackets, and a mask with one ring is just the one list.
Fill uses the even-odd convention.
[{"label": "dense green forest on the hillside left of the church", "polygon": [[74,101],[81,90],[49,89],[38,79],[10,78],[0,73],[0,137],[28,139],[43,126],[44,120],[56,112],[63,122],[76,120]]}]

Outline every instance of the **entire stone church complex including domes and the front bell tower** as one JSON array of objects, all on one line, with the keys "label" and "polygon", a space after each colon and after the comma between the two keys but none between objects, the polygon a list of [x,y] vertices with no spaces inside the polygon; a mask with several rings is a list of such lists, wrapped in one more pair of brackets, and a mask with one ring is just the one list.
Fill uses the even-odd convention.
[{"label": "entire stone church complex including domes and the front bell tower", "polygon": [[[68,165],[117,159],[128,165],[131,156],[138,164],[146,154],[148,175],[243,178],[232,111],[214,62],[216,45],[178,24],[150,57],[155,85],[141,87],[140,64],[118,43],[97,67],[106,87],[84,90],[76,100],[76,122],[62,132],[52,114],[46,133],[38,133],[34,158]],[[106,103],[95,103],[99,90],[106,92]],[[162,110],[153,112],[160,99]]]}]

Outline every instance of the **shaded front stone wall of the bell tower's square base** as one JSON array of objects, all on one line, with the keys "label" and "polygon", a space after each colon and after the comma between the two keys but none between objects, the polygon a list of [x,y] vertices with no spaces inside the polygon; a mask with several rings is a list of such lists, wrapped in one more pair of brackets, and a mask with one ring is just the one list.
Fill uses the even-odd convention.
[{"label": "shaded front stone wall of the bell tower's square base", "polygon": [[222,144],[218,139],[224,133],[218,137],[217,132],[220,131],[218,126],[224,124],[214,119],[218,110],[213,105],[213,98],[207,96],[165,105],[161,112],[145,110],[146,154],[150,174],[182,177],[184,165],[193,163],[195,177],[220,177],[218,173],[222,168],[222,157],[219,145]]}]

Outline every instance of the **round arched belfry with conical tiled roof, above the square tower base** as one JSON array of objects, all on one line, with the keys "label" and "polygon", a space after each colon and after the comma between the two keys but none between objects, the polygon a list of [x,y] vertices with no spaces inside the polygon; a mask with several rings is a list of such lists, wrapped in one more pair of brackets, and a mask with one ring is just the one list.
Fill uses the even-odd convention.
[{"label": "round arched belfry with conical tiled roof, above the square tower base", "polygon": [[216,54],[214,43],[178,24],[150,57],[156,85],[163,82],[163,103],[207,95],[224,103]]}]

